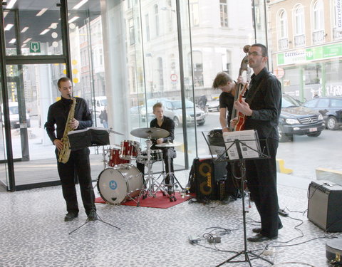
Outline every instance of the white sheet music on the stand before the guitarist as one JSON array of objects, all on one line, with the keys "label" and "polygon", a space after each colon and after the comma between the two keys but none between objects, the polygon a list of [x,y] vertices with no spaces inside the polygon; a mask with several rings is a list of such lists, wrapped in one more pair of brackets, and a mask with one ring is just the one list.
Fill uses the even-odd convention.
[{"label": "white sheet music on the stand before the guitarist", "polygon": [[[230,147],[227,150],[229,159],[239,159],[237,146],[236,144],[234,144],[234,140],[240,141],[239,146],[241,148],[242,157],[244,159],[260,157],[259,155],[260,143],[259,143],[258,133],[256,130],[224,132],[223,139],[224,139],[226,148],[228,149],[228,147]],[[249,141],[245,141],[245,140],[249,140]],[[257,150],[257,151],[254,151],[254,150]]]}]

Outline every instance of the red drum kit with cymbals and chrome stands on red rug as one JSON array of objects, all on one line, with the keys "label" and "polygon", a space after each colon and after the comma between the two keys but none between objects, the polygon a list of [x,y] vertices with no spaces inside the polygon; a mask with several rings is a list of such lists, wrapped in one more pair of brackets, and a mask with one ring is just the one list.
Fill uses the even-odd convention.
[{"label": "red drum kit with cymbals and chrome stands on red rug", "polygon": [[[120,134],[115,132],[116,134]],[[115,145],[109,149],[103,147],[103,171],[100,172],[97,187],[100,196],[108,204],[121,204],[133,200],[140,206],[140,199],[156,197],[161,191],[170,201],[176,201],[175,187],[185,190],[178,182],[175,174],[170,172],[170,158],[168,160],[169,172],[166,174],[162,164],[162,173],[157,179],[152,174],[152,164],[162,161],[162,150],[152,150],[152,139],[164,138],[169,135],[167,130],[160,128],[138,128],[130,132],[131,135],[146,139],[146,150],[140,149],[140,143],[132,140],[123,140],[120,146]],[[181,145],[180,143],[165,142],[155,145],[160,148],[169,148]],[[107,157],[109,155],[109,160]],[[139,169],[132,162],[137,161],[147,167],[145,182]],[[165,184],[165,178],[170,177],[171,184]],[[162,181],[158,179],[163,177]],[[176,182],[175,182],[176,181]],[[169,190],[167,191],[167,187]],[[170,190],[170,187],[172,190]],[[172,194],[170,193],[172,192]]]}]

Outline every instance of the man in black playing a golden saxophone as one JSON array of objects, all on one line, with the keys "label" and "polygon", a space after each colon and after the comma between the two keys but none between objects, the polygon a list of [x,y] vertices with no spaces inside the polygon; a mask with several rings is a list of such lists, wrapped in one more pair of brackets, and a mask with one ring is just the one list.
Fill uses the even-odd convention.
[{"label": "man in black playing a golden saxophone", "polygon": [[86,100],[71,96],[73,86],[69,78],[63,77],[59,79],[57,85],[58,90],[61,92],[61,100],[53,103],[48,108],[48,118],[44,127],[53,145],[56,146],[58,174],[61,179],[63,197],[66,200],[66,210],[68,211],[64,221],[72,221],[78,216],[76,174],[80,183],[81,197],[88,220],[94,221],[97,219],[97,214],[94,204],[95,194],[90,176],[90,150],[86,147],[68,151],[68,145],[65,144],[66,135],[69,131],[90,127],[93,125],[93,120]]}]

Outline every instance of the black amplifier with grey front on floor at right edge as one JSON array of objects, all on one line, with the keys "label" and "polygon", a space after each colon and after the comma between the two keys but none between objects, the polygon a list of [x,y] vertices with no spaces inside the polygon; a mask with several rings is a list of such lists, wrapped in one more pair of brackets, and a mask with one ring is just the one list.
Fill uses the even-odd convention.
[{"label": "black amplifier with grey front on floor at right edge", "polygon": [[329,181],[309,185],[308,218],[324,231],[342,231],[342,186]]}]

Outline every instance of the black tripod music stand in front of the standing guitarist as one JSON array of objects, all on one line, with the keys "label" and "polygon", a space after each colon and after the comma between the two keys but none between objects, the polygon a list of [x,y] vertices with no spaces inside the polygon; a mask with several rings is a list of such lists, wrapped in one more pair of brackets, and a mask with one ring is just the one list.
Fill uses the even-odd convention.
[{"label": "black tripod music stand in front of the standing guitarist", "polygon": [[[239,132],[245,132],[245,131],[239,131]],[[235,132],[237,133],[237,132]],[[256,133],[256,132],[255,132]],[[252,160],[252,159],[269,159],[269,147],[267,146],[267,142],[265,142],[266,145],[266,150],[267,150],[267,155],[264,154],[264,152],[261,152],[261,147],[259,144],[259,138],[257,137],[257,135],[255,135],[255,139],[249,139],[246,140],[242,137],[242,140],[239,140],[238,134],[235,137],[234,140],[232,141],[225,141],[225,144],[229,144],[227,149],[225,150],[224,153],[228,153],[228,155],[232,155],[232,150],[234,150],[234,152],[237,152],[237,157],[232,157],[234,159],[226,159],[227,162],[238,162],[239,167],[240,167],[240,173],[241,173],[241,187],[244,187],[244,179],[245,179],[245,172],[246,172],[246,168],[245,168],[245,161],[246,160]],[[247,142],[252,142],[255,143],[257,150],[255,149],[255,147],[251,147],[251,145],[247,145]],[[242,152],[242,147],[244,147],[244,152]],[[254,154],[253,152],[257,152],[257,154],[259,155],[258,157],[248,157],[248,151],[252,152],[252,155]],[[230,152],[230,153],[229,153]],[[251,153],[249,153],[251,154]],[[219,157],[220,158],[220,157]],[[263,258],[255,253],[253,253],[252,251],[247,251],[247,231],[246,231],[246,209],[244,207],[244,190],[242,190],[242,216],[243,216],[243,224],[244,224],[244,250],[240,251],[239,253],[237,253],[236,255],[232,256],[231,258],[228,258],[227,261],[223,261],[222,263],[219,263],[219,265],[217,265],[216,267],[222,266],[224,265],[224,263],[240,263],[240,262],[248,262],[249,266],[252,267],[252,263],[251,260],[249,259],[249,254],[254,256],[255,258],[259,258],[263,261],[266,261],[268,263],[270,263],[271,265],[273,265],[273,262],[267,260],[266,258]],[[244,261],[232,261],[234,258],[237,258],[240,255],[244,255]]]}]

